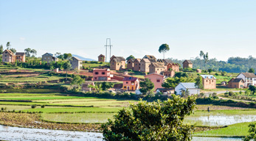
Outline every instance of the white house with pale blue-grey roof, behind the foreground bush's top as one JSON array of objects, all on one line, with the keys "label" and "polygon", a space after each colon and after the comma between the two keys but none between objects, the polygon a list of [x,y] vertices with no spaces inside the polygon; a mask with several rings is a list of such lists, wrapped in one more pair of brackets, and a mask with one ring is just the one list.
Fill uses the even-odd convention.
[{"label": "white house with pale blue-grey roof, behind the foreground bush's top", "polygon": [[190,95],[199,94],[200,90],[196,88],[195,83],[179,83],[175,87],[176,95],[181,95],[182,91],[186,91],[190,93]]}]

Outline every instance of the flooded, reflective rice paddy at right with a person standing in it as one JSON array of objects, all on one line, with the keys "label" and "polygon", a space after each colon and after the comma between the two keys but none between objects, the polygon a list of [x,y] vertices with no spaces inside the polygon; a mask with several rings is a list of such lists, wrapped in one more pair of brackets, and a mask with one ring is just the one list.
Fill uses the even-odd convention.
[{"label": "flooded, reflective rice paddy at right with a person standing in it", "polygon": [[201,126],[228,126],[235,123],[256,121],[256,115],[208,115],[201,117],[186,117],[185,122],[197,123]]}]

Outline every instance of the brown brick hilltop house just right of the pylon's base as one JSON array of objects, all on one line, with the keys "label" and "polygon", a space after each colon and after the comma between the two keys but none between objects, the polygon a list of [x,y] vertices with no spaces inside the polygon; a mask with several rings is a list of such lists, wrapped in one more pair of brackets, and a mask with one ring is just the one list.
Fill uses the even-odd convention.
[{"label": "brown brick hilltop house just right of the pylon's base", "polygon": [[110,60],[110,69],[115,71],[120,71],[121,69],[125,69],[125,58],[115,57],[113,55]]}]

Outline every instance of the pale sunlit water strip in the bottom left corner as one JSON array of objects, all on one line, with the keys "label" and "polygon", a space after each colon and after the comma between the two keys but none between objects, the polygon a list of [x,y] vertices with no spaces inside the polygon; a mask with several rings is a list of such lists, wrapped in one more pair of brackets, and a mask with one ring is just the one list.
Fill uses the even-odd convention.
[{"label": "pale sunlit water strip in the bottom left corner", "polygon": [[27,129],[0,125],[0,140],[90,140],[102,141],[102,133]]}]

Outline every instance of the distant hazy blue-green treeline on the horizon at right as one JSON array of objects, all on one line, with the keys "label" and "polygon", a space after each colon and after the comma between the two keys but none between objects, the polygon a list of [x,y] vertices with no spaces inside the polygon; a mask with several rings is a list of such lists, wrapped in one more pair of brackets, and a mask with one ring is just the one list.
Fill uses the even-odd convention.
[{"label": "distant hazy blue-green treeline on the horizon at right", "polygon": [[[178,62],[181,67],[184,60],[172,59],[173,62]],[[214,71],[226,71],[227,73],[241,73],[248,72],[249,68],[254,68],[256,70],[256,58],[248,57],[229,57],[228,61],[218,61],[217,59],[209,59],[205,62],[204,59],[196,57],[191,59],[193,62],[193,68],[200,68],[201,70],[208,70],[212,68]]]}]

